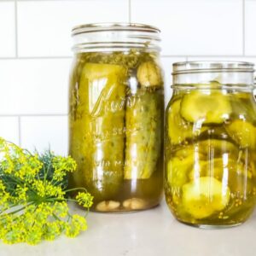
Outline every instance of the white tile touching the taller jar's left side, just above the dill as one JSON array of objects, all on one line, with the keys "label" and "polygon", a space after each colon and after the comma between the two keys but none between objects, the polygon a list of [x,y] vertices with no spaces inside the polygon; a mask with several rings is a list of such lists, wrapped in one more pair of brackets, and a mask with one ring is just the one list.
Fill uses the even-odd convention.
[{"label": "white tile touching the taller jar's left side, just above the dill", "polygon": [[67,154],[67,116],[21,117],[21,147]]}]

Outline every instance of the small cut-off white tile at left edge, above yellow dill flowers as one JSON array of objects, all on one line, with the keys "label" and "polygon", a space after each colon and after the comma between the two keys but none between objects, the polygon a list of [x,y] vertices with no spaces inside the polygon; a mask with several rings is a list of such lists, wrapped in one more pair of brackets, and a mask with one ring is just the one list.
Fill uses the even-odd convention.
[{"label": "small cut-off white tile at left edge, above yellow dill flowers", "polygon": [[19,118],[0,117],[0,137],[19,144]]}]

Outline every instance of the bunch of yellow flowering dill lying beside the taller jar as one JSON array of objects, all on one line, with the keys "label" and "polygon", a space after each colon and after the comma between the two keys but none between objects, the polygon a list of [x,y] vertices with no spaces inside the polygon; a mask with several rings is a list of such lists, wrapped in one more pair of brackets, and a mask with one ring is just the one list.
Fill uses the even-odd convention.
[{"label": "bunch of yellow flowering dill lying beside the taller jar", "polygon": [[[0,239],[37,244],[86,230],[86,219],[71,214],[67,205],[77,201],[87,212],[92,205],[85,189],[67,189],[67,174],[75,169],[69,156],[32,154],[0,138]],[[73,190],[79,190],[77,196],[68,198]]]}]

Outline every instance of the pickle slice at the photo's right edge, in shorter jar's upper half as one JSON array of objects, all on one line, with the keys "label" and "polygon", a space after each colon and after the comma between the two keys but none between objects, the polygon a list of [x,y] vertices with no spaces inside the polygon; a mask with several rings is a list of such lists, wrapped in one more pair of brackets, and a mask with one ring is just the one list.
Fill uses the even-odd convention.
[{"label": "pickle slice at the photo's right edge, in shorter jar's upper half", "polygon": [[230,125],[225,125],[225,128],[241,148],[256,148],[256,129],[251,123],[236,119]]}]

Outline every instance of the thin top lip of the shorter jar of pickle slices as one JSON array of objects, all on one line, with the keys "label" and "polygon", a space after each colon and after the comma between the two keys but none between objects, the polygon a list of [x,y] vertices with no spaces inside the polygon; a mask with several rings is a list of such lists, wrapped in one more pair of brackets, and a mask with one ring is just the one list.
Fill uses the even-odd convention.
[{"label": "thin top lip of the shorter jar of pickle slices", "polygon": [[182,61],[172,64],[172,75],[185,73],[253,73],[254,64],[247,61]]}]

